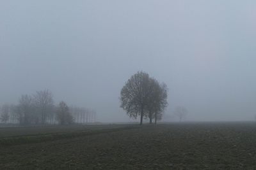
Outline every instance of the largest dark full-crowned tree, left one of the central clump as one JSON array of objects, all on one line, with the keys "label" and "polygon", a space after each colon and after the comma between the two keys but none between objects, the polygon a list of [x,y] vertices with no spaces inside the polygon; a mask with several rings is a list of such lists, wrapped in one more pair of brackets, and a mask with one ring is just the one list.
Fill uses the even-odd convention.
[{"label": "largest dark full-crowned tree, left one of the central clump", "polygon": [[145,109],[150,95],[150,78],[148,73],[140,71],[131,76],[120,93],[121,108],[131,118],[140,116],[140,125],[145,117]]}]

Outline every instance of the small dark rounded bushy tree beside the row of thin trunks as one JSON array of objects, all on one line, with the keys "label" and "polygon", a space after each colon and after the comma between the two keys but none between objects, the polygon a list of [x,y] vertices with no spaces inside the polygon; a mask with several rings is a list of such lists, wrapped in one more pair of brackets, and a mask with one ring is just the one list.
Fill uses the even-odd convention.
[{"label": "small dark rounded bushy tree beside the row of thin trunks", "polygon": [[74,122],[74,118],[69,112],[67,104],[63,101],[61,101],[57,107],[56,118],[59,124],[61,125],[72,124]]}]

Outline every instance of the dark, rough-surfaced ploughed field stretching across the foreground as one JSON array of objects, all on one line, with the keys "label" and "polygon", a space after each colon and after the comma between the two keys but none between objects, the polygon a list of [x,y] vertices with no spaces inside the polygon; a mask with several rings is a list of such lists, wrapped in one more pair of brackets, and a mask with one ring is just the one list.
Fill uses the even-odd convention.
[{"label": "dark, rough-surfaced ploughed field stretching across the foreground", "polygon": [[0,169],[256,169],[256,124],[1,128]]}]

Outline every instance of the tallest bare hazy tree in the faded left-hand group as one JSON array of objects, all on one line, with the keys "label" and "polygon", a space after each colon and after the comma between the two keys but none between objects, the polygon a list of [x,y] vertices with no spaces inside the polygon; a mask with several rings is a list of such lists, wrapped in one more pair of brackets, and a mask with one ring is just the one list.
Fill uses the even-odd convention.
[{"label": "tallest bare hazy tree in the faded left-hand group", "polygon": [[[49,90],[38,91],[34,95],[36,112],[38,113],[37,122],[46,124],[47,120],[51,120],[53,117],[54,101],[52,99],[52,93]],[[51,122],[51,121],[50,121]]]}]

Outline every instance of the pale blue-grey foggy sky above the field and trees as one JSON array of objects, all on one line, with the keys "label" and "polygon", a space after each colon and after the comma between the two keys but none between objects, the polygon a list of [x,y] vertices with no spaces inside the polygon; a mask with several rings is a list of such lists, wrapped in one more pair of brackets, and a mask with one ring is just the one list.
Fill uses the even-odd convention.
[{"label": "pale blue-grey foggy sky above the field and trees", "polygon": [[49,89],[55,103],[129,122],[120,90],[137,71],[168,85],[166,121],[256,115],[256,1],[0,2],[0,104]]}]

